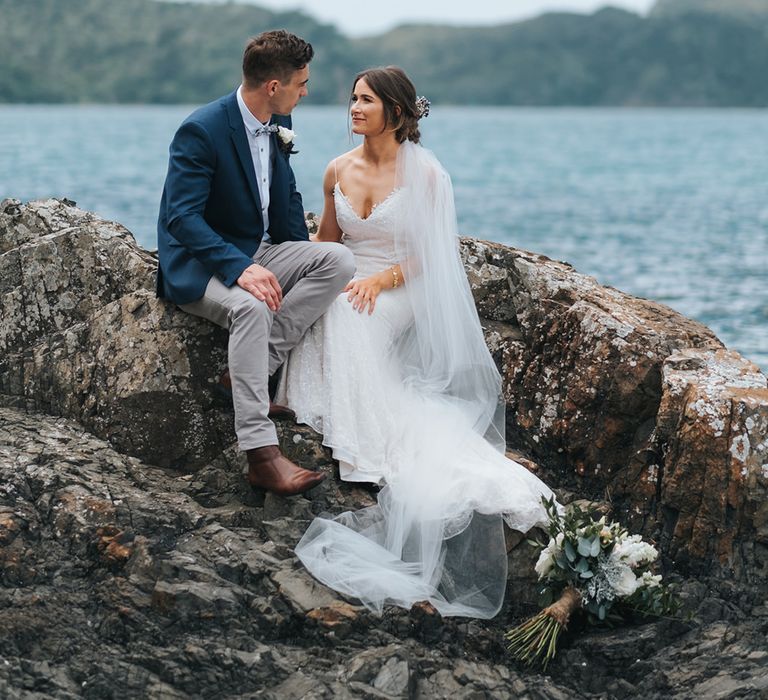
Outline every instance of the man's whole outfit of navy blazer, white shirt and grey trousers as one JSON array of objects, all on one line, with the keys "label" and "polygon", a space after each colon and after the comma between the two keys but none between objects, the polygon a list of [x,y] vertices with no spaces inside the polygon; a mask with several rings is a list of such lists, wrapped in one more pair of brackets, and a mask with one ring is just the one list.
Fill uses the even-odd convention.
[{"label": "man's whole outfit of navy blazer, white shirt and grey trousers", "polygon": [[[290,117],[272,123],[291,127]],[[269,376],[354,274],[344,246],[308,241],[288,149],[261,126],[239,90],[187,117],[171,143],[157,226],[158,296],[229,330],[241,450],[278,444]],[[253,263],[283,290],[277,312],[237,285]]]}]

